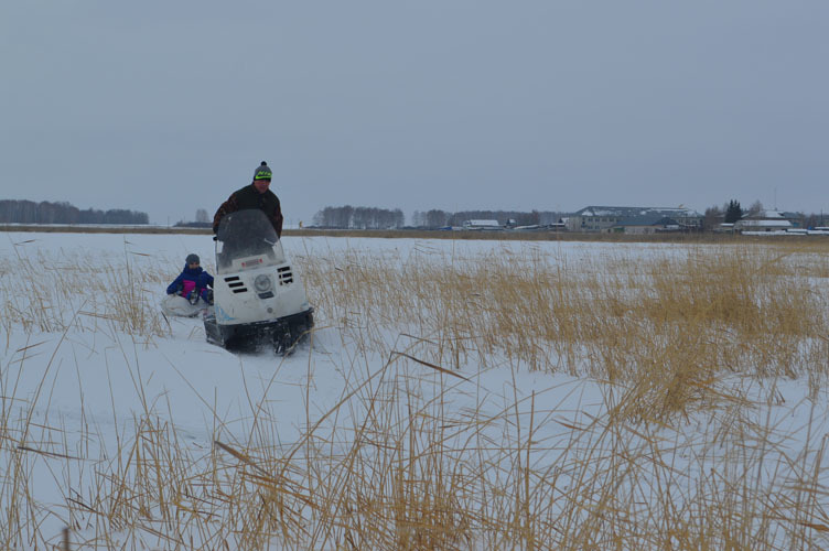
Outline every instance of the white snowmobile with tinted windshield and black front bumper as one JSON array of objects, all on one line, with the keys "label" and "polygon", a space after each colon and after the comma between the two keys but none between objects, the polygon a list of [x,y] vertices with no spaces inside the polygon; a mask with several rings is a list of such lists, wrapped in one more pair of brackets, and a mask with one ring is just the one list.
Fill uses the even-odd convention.
[{"label": "white snowmobile with tinted windshield and black front bumper", "polygon": [[268,217],[259,209],[228,214],[214,240],[217,276],[213,311],[204,317],[207,342],[230,350],[292,352],[314,326],[313,309]]}]

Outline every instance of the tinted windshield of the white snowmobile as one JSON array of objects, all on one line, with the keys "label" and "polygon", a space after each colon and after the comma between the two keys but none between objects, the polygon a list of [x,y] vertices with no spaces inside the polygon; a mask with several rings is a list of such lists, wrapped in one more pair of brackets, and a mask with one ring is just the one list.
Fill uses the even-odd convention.
[{"label": "tinted windshield of the white snowmobile", "polygon": [[258,208],[237,210],[219,222],[216,234],[218,273],[252,270],[284,261],[277,231]]}]

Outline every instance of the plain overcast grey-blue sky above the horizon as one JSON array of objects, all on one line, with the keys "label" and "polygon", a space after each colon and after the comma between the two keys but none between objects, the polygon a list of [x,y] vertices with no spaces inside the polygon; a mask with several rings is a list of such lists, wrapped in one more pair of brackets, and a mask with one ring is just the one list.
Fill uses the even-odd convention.
[{"label": "plain overcast grey-blue sky above the horizon", "polygon": [[829,2],[0,3],[0,198],[829,212]]}]

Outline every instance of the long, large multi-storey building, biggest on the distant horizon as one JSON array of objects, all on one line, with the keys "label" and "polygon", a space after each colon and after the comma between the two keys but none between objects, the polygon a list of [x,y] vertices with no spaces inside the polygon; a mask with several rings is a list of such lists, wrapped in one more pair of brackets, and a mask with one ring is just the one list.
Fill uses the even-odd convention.
[{"label": "long, large multi-storey building, biggest on the distant horizon", "polygon": [[649,227],[663,218],[672,220],[678,226],[676,230],[688,230],[701,228],[703,216],[683,207],[588,206],[567,218],[567,228],[570,231],[611,233],[617,227]]}]

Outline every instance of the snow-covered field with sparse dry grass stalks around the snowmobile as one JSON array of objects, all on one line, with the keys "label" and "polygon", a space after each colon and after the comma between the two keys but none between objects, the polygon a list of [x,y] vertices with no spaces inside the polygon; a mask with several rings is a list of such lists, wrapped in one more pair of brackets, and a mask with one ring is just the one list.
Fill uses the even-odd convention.
[{"label": "snow-covered field with sparse dry grass stalks around the snowmobile", "polygon": [[[551,345],[539,367],[480,334],[444,341],[427,304],[446,298],[423,291],[422,315],[370,300],[373,278],[412,267],[607,276],[704,246],[283,245],[317,309],[287,358],[227,353],[198,318],[160,315],[189,252],[215,273],[205,236],[0,235],[0,540],[51,549],[68,527],[72,549],[829,545],[829,366],[806,365],[827,357],[825,327],[797,344],[804,365],[711,366],[692,381],[704,399],[656,417],[627,406],[660,390],[599,375],[589,344]],[[793,278],[826,253],[782,261]],[[369,300],[331,281],[354,272]],[[820,273],[803,278],[825,306]]]}]

